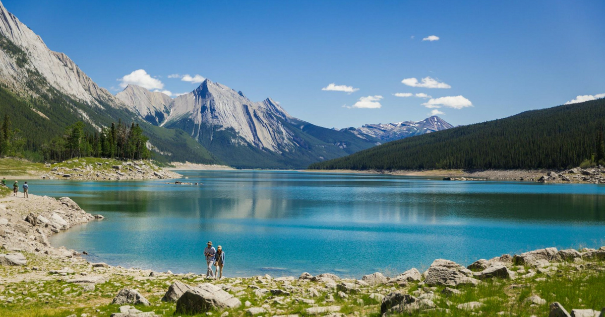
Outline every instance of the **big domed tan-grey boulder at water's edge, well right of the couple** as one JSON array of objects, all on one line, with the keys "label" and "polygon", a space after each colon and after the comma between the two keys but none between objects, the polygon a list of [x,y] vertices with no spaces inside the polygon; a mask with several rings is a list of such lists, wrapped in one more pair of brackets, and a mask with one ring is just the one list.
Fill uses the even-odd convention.
[{"label": "big domed tan-grey boulder at water's edge, well right of the couple", "polygon": [[424,281],[428,286],[476,286],[480,281],[470,277],[472,274],[472,271],[454,261],[437,259],[428,268]]}]

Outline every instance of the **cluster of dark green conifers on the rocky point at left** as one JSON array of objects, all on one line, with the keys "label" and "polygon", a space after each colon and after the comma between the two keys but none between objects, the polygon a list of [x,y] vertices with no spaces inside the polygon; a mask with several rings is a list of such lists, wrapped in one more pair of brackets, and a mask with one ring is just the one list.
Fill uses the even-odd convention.
[{"label": "cluster of dark green conifers on the rocky point at left", "polygon": [[101,131],[87,133],[84,123],[78,121],[42,146],[45,161],[64,161],[71,158],[93,156],[113,159],[148,159],[151,152],[147,148],[148,138],[143,135],[139,124],[131,126],[122,121]]}]

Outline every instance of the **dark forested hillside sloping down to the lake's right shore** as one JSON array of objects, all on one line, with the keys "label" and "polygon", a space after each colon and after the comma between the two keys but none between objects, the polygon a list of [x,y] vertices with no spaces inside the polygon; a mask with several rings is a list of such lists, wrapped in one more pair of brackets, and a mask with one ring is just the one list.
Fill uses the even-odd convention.
[{"label": "dark forested hillside sloping down to the lake's right shore", "polygon": [[605,99],[388,142],[312,169],[430,170],[576,167],[603,153]]}]

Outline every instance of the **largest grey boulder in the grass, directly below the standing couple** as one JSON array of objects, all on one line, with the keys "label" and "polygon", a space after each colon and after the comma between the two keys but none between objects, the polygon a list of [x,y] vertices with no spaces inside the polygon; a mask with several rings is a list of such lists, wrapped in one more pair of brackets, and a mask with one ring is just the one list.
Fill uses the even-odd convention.
[{"label": "largest grey boulder in the grass, directly below the standing couple", "polygon": [[183,293],[177,301],[176,312],[196,315],[214,309],[237,308],[240,306],[240,299],[235,298],[214,284],[203,283]]}]

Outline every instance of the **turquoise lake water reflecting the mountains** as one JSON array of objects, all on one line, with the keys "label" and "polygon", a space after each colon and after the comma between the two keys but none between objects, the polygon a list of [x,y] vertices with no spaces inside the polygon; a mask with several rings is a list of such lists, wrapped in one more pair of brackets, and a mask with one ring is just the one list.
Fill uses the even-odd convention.
[{"label": "turquoise lake water reflecting the mountains", "polygon": [[189,182],[31,181],[102,221],[54,235],[91,261],[205,273],[208,240],[226,276],[361,277],[478,258],[605,245],[605,186],[303,173],[186,171]]}]

